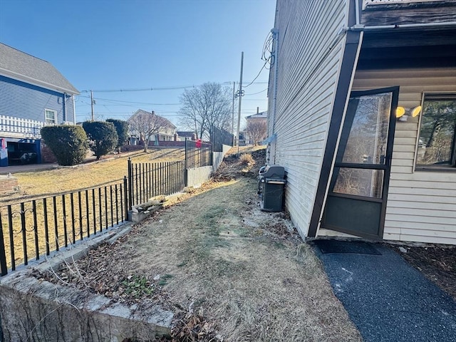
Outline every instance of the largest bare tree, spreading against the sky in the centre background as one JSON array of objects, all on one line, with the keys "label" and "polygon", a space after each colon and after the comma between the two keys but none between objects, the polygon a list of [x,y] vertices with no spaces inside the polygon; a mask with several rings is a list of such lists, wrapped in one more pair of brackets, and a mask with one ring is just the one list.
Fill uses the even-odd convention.
[{"label": "largest bare tree, spreading against the sky in the centre background", "polygon": [[180,124],[197,133],[197,138],[209,138],[212,125],[229,130],[232,93],[219,83],[204,83],[185,90],[180,96]]}]

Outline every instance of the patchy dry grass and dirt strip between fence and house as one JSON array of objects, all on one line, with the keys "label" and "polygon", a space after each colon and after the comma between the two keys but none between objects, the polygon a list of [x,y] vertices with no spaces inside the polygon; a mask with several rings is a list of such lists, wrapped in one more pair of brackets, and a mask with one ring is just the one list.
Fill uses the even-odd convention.
[{"label": "patchy dry grass and dirt strip between fence and house", "polygon": [[160,303],[175,313],[172,341],[361,341],[293,224],[260,211],[262,164],[239,160],[115,244],[38,276],[115,301]]}]

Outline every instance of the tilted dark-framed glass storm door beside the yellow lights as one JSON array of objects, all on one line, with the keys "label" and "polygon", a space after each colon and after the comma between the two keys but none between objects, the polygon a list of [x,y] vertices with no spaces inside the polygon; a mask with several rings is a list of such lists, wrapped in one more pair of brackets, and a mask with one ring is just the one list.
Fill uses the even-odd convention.
[{"label": "tilted dark-framed glass storm door beside the yellow lights", "polygon": [[382,239],[399,87],[352,92],[321,228]]}]

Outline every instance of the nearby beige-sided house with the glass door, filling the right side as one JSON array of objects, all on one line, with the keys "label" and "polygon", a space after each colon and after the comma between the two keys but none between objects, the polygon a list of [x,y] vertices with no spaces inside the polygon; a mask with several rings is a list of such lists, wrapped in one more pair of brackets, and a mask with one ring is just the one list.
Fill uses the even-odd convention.
[{"label": "nearby beige-sided house with the glass door, filling the right side", "polygon": [[270,164],[301,237],[456,244],[456,1],[278,0]]}]

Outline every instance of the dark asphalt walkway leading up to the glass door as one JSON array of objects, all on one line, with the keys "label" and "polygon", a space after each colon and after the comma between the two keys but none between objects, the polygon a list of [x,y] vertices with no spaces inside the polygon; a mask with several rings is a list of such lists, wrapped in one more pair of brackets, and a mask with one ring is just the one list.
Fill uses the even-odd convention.
[{"label": "dark asphalt walkway leading up to the glass door", "polygon": [[456,302],[392,249],[337,240],[313,244],[366,342],[456,341]]}]

